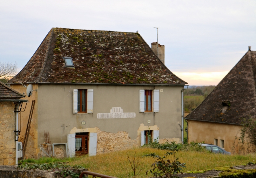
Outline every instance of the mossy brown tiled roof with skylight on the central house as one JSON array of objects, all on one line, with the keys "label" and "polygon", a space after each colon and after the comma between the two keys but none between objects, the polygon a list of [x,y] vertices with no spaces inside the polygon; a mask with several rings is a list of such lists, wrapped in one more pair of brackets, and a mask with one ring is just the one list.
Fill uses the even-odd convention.
[{"label": "mossy brown tiled roof with skylight on the central house", "polygon": [[[65,67],[72,57],[74,67]],[[9,83],[178,84],[139,33],[52,28]]]}]

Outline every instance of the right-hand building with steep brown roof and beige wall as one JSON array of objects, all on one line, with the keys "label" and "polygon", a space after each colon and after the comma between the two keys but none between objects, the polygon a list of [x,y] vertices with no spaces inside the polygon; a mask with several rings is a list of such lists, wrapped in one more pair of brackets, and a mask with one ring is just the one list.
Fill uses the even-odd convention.
[{"label": "right-hand building with steep brown roof and beige wall", "polygon": [[215,144],[241,151],[238,138],[243,119],[256,116],[256,51],[248,52],[189,115],[188,142]]}]

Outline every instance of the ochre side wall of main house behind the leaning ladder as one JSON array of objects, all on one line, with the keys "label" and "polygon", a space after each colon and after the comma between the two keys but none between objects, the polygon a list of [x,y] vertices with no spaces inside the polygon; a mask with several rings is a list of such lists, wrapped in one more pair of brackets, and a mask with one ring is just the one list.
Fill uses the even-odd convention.
[{"label": "ochre side wall of main house behind the leaning ladder", "polygon": [[[28,84],[27,84],[28,85]],[[25,93],[26,94],[26,89],[23,87],[21,84],[11,84],[11,88],[13,88],[16,91],[19,91],[19,93]],[[37,84],[33,84],[33,89],[38,89]],[[31,129],[29,132],[29,137],[28,137],[28,143],[27,143],[27,149],[26,149],[26,155],[25,158],[37,158],[38,153],[40,152],[40,148],[38,146],[37,142],[37,117],[38,117],[38,92],[33,91],[33,94],[28,97],[26,96],[25,98],[21,98],[22,100],[28,100],[29,103],[27,103],[26,110],[24,112],[21,112],[21,132],[19,136],[19,142],[24,141],[24,136],[27,128],[27,123],[28,123],[28,116],[29,112],[31,109],[32,105],[32,100],[35,100],[35,107],[34,107],[34,112],[32,115],[32,121],[31,121]],[[23,103],[22,108],[25,108],[26,103]]]}]

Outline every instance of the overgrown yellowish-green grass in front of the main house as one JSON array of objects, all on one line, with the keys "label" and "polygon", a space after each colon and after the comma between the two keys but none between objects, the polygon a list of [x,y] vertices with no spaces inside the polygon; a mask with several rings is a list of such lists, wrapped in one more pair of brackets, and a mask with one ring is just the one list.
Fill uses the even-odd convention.
[{"label": "overgrown yellowish-green grass in front of the main house", "polygon": [[[118,178],[128,178],[132,175],[132,169],[127,160],[128,155],[136,155],[142,157],[149,153],[156,153],[163,156],[166,153],[165,150],[157,150],[150,148],[134,148],[124,151],[116,151],[105,154],[98,154],[96,156],[79,157],[73,159],[54,159],[45,158],[39,160],[28,159],[26,162],[45,163],[52,161],[69,161],[70,165],[81,165],[89,171],[105,174],[108,176],[114,176]],[[176,156],[179,157],[181,163],[186,163],[186,168],[183,172],[191,170],[201,170],[222,166],[235,166],[241,164],[247,164],[248,162],[255,162],[256,155],[221,155],[214,153],[200,153],[194,151],[178,151]],[[167,157],[171,159],[172,157]],[[138,178],[150,177],[146,176],[145,172],[150,169],[151,164],[154,162],[153,158],[142,157],[143,170],[139,174]],[[130,175],[130,176],[129,176]]]}]

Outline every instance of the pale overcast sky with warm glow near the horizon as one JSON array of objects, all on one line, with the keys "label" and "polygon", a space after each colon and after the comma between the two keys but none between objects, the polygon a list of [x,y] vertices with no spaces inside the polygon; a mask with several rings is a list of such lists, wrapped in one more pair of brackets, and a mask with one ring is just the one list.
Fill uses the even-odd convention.
[{"label": "pale overcast sky with warm glow near the horizon", "polygon": [[216,85],[256,50],[255,0],[22,0],[0,2],[0,62],[21,70],[52,27],[136,32],[165,46],[189,85]]}]

